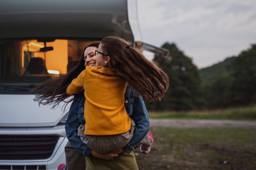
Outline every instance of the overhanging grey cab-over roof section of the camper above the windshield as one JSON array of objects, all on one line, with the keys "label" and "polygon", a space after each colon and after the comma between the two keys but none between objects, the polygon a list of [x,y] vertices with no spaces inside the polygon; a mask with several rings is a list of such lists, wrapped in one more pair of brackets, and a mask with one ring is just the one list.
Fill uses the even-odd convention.
[{"label": "overhanging grey cab-over roof section of the camper above the windshield", "polygon": [[[134,42],[127,0],[0,0],[0,6],[0,39],[117,36]],[[136,0],[129,6],[136,14]]]}]

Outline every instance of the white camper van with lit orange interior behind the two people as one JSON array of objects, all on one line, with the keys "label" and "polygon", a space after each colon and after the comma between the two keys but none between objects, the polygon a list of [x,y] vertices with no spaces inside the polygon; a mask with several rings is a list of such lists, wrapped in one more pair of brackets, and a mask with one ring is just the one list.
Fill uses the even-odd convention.
[{"label": "white camper van with lit orange interior behind the two people", "polygon": [[0,170],[65,163],[68,110],[39,107],[31,89],[67,73],[85,46],[108,36],[168,55],[141,42],[136,0],[0,0]]}]

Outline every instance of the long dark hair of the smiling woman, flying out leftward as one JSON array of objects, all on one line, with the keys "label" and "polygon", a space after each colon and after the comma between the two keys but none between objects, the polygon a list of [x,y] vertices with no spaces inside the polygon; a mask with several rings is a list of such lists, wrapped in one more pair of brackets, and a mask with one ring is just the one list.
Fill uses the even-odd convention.
[{"label": "long dark hair of the smiling woman, flying out leftward", "polygon": [[[84,48],[84,51],[88,47],[96,47],[99,48],[99,42],[88,45]],[[77,78],[78,75],[85,69],[84,66],[84,53],[80,59],[80,62],[76,65],[75,68],[70,70],[67,74],[57,75],[47,79],[45,82],[36,85],[33,90],[37,88],[42,88],[42,90],[46,89],[47,91],[37,94],[35,96],[34,101],[38,101],[39,105],[52,105],[52,108],[56,108],[61,102],[65,102],[64,111],[69,102],[73,101],[73,97],[71,98],[66,94],[67,86],[70,85],[73,79]],[[69,98],[69,99],[68,99]]]}]

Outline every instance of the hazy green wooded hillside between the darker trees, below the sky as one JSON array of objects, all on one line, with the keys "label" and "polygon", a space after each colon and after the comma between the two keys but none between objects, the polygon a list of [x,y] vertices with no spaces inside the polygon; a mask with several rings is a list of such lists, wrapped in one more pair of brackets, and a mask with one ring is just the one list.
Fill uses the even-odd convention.
[{"label": "hazy green wooded hillside between the darker trees, below the sky", "polygon": [[201,76],[202,85],[209,85],[221,77],[229,77],[232,72],[231,63],[235,57],[228,57],[223,62],[219,62],[207,68],[201,68],[199,74]]}]

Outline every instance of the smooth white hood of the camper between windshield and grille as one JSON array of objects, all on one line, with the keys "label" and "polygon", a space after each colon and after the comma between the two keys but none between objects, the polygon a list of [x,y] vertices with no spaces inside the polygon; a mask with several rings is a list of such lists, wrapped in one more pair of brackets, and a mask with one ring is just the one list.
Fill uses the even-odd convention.
[{"label": "smooth white hood of the camper between windshield and grille", "polygon": [[0,94],[0,127],[55,126],[67,113],[34,102],[35,95]]}]

